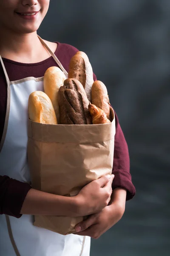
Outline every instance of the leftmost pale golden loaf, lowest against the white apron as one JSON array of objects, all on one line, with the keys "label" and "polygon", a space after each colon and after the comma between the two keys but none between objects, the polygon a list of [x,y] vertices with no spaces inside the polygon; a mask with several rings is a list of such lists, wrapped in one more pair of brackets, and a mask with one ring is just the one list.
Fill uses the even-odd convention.
[{"label": "leftmost pale golden loaf, lowest against the white apron", "polygon": [[42,124],[57,125],[56,114],[50,98],[41,91],[30,94],[28,99],[29,119]]}]

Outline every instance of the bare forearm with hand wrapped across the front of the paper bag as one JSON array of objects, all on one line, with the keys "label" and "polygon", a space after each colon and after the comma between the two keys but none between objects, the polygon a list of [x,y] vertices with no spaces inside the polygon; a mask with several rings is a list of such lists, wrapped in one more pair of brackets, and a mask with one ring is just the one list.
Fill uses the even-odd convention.
[{"label": "bare forearm with hand wrapped across the front of the paper bag", "polygon": [[111,198],[114,175],[109,176],[92,181],[73,197],[30,189],[20,213],[77,217],[102,211]]}]

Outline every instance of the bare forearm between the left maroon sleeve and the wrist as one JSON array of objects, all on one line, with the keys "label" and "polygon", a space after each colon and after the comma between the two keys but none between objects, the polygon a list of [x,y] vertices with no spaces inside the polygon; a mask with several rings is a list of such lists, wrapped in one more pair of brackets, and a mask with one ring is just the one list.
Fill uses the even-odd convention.
[{"label": "bare forearm between the left maroon sleeve and the wrist", "polygon": [[76,197],[53,195],[30,189],[21,208],[21,214],[77,216]]}]

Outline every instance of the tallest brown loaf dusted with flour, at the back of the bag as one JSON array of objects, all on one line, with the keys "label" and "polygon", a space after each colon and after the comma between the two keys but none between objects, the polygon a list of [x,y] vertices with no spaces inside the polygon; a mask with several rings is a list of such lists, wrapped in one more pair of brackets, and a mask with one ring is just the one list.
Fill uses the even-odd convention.
[{"label": "tallest brown loaf dusted with flour, at the back of the bag", "polygon": [[70,61],[68,78],[74,78],[80,81],[91,102],[91,87],[94,82],[93,70],[85,52],[77,52]]}]

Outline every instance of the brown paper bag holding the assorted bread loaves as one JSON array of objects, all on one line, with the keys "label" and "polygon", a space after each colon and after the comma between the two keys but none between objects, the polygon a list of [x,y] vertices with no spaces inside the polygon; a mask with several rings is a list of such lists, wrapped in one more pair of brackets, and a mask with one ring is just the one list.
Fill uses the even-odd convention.
[{"label": "brown paper bag holding the assorted bread loaves", "polygon": [[[45,125],[28,121],[28,164],[32,187],[74,196],[113,167],[115,118],[99,125]],[[74,233],[83,217],[36,215],[34,225],[62,235]]]}]

